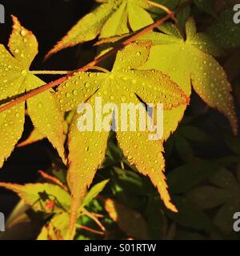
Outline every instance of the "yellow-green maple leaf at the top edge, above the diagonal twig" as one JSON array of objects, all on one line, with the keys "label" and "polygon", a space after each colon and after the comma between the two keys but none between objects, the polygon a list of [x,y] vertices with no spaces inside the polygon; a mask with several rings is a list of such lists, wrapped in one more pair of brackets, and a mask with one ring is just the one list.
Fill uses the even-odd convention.
[{"label": "yellow-green maple leaf at the top edge, above the diagonal twig", "polygon": [[46,58],[66,47],[93,40],[98,34],[100,38],[109,38],[129,33],[131,30],[140,30],[153,23],[150,14],[146,12],[146,9],[150,7],[146,0],[97,2],[102,4],[80,19],[68,34],[50,50]]}]

